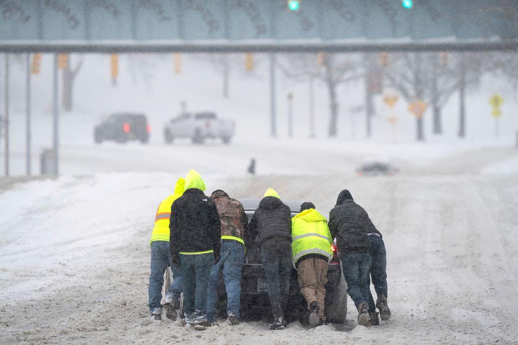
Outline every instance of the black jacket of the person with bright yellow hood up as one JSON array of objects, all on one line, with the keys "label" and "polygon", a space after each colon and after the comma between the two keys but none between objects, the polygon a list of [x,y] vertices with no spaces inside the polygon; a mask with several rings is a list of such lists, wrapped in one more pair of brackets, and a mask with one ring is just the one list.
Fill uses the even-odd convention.
[{"label": "black jacket of the person with bright yellow hood up", "polygon": [[197,188],[185,190],[171,206],[171,255],[180,252],[220,251],[221,222],[212,199]]}]

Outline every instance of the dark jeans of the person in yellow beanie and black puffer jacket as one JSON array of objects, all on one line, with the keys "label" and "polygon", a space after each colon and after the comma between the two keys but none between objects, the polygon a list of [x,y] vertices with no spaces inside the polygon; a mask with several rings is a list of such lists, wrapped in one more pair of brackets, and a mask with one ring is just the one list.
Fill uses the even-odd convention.
[{"label": "dark jeans of the person in yellow beanie and black puffer jacket", "polygon": [[289,241],[275,242],[270,240],[261,246],[271,313],[274,314],[276,319],[282,316],[286,308],[286,294],[290,291],[291,254],[292,249]]}]

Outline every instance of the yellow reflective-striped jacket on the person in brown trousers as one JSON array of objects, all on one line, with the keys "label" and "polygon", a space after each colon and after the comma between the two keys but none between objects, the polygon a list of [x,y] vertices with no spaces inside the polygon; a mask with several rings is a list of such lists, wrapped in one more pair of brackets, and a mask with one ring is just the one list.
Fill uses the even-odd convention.
[{"label": "yellow reflective-striped jacket on the person in brown trousers", "polygon": [[[333,239],[327,219],[316,209],[310,208],[300,212],[292,218],[292,262],[297,261],[307,254],[321,254],[331,261]],[[296,266],[295,266],[296,267]]]}]

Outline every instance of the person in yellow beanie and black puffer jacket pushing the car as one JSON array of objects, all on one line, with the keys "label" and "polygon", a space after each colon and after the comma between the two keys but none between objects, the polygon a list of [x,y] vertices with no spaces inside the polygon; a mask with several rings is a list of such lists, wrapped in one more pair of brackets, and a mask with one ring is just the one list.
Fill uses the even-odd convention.
[{"label": "person in yellow beanie and black puffer jacket pushing the car", "polygon": [[268,188],[250,220],[248,232],[257,237],[268,285],[274,323],[270,329],[283,329],[286,294],[291,275],[291,211],[279,194]]}]

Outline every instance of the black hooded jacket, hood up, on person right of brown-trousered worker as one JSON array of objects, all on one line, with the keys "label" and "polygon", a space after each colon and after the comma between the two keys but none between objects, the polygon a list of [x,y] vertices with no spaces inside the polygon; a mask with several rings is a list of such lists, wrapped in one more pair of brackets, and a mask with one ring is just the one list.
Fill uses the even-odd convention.
[{"label": "black hooded jacket, hood up, on person right of brown-trousered worker", "polygon": [[372,222],[365,209],[353,201],[347,189],[342,190],[336,206],[329,213],[328,223],[331,235],[336,237],[340,256],[370,252],[370,238],[367,235],[371,231],[370,224]]}]

